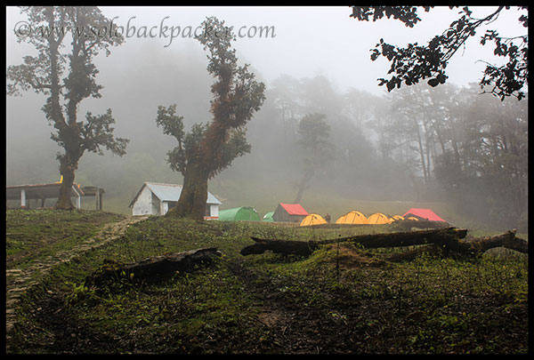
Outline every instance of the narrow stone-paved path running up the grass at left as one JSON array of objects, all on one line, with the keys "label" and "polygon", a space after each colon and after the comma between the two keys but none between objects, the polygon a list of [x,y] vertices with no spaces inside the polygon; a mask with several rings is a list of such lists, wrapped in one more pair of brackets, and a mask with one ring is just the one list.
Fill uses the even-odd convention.
[{"label": "narrow stone-paved path running up the grass at left", "polygon": [[32,285],[36,284],[36,281],[31,280],[35,278],[38,273],[38,278],[48,274],[50,270],[62,262],[69,262],[74,257],[82,255],[84,252],[98,248],[103,244],[108,243],[111,240],[117,239],[122,236],[126,228],[130,225],[139,222],[141,220],[148,219],[147,216],[128,216],[125,220],[117,222],[111,222],[104,225],[101,231],[93,237],[78,244],[75,248],[69,251],[57,252],[53,256],[48,256],[43,260],[40,260],[32,264],[29,268],[10,268],[5,272],[5,329],[9,333],[12,329],[15,320],[14,308],[19,301],[20,294],[26,292],[26,290]]}]

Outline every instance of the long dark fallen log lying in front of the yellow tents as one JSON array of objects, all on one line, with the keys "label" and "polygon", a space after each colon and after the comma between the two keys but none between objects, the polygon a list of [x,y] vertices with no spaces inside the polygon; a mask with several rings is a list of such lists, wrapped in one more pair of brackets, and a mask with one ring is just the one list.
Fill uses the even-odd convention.
[{"label": "long dark fallen log lying in front of the yellow tents", "polygon": [[458,238],[464,238],[466,234],[466,229],[440,228],[410,232],[347,236],[337,239],[308,242],[261,239],[251,236],[251,238],[255,241],[255,244],[249,245],[242,249],[241,255],[246,256],[250,254],[260,254],[266,251],[271,251],[275,253],[308,256],[324,244],[334,244],[338,242],[360,244],[366,248],[396,247],[418,244],[443,244],[455,240],[457,241]]}]

